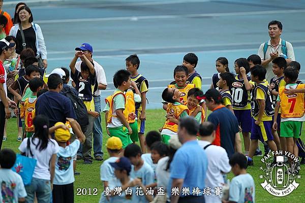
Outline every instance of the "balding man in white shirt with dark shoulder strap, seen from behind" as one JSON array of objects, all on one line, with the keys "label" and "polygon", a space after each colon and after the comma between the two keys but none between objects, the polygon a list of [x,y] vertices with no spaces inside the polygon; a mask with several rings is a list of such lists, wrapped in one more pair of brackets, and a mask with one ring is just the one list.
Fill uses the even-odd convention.
[{"label": "balding man in white shirt with dark shoulder strap, seen from behind", "polygon": [[216,187],[223,187],[222,184],[226,182],[223,175],[231,171],[228,154],[224,148],[211,144],[216,137],[213,123],[202,123],[199,127],[199,136],[199,146],[204,149],[208,159],[205,186],[211,188],[211,195],[204,196],[205,202],[221,203],[220,196],[216,196],[214,191]]}]

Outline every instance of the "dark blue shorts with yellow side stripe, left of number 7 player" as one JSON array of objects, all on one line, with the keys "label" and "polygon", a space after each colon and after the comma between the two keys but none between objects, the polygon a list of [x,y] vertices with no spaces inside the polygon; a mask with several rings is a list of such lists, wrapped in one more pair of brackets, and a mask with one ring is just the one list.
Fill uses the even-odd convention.
[{"label": "dark blue shorts with yellow side stripe, left of number 7 player", "polygon": [[252,118],[251,140],[260,140],[261,142],[273,140],[271,127],[272,121],[261,121],[259,125],[256,125],[254,118]]}]

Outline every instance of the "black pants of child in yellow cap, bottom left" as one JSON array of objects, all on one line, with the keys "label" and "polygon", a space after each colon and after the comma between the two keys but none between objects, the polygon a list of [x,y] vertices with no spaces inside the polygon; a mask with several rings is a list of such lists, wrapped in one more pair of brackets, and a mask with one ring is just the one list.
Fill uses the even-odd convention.
[{"label": "black pants of child in yellow cap, bottom left", "polygon": [[68,185],[53,185],[53,203],[74,203],[73,183]]}]

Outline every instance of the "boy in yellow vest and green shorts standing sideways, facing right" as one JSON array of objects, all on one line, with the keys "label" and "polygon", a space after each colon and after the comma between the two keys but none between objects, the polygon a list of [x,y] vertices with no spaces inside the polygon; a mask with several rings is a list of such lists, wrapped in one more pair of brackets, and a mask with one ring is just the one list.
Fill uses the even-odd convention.
[{"label": "boy in yellow vest and green shorts standing sideways, facing right", "polygon": [[[113,83],[117,89],[106,98],[104,112],[107,115],[107,133],[112,137],[118,137],[123,143],[123,149],[131,144],[130,134],[132,128],[128,122],[129,112],[125,91],[131,85],[130,73],[126,70],[119,70],[113,76]],[[125,111],[127,110],[127,111]],[[105,119],[106,119],[105,118]]]}]

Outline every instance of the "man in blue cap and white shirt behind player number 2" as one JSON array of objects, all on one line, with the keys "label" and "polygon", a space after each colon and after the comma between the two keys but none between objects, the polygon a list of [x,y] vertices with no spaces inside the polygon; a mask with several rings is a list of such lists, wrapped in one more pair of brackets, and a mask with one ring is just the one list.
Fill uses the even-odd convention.
[{"label": "man in blue cap and white shirt behind player number 2", "polygon": [[[107,88],[107,81],[106,75],[104,72],[103,67],[95,60],[93,60],[93,48],[88,43],[83,43],[80,47],[75,48],[76,51],[83,51],[84,55],[89,59],[89,61],[94,63],[94,68],[97,75],[97,82],[98,82],[98,90],[94,93],[94,105],[95,111],[101,112],[101,90]],[[80,64],[83,61],[82,57],[80,57],[81,61],[77,61],[75,67],[78,71],[80,71]],[[72,82],[73,87],[75,87],[75,83]],[[93,125],[93,150],[94,150],[94,157],[98,161],[103,160],[104,152],[102,151],[102,144],[103,144],[103,132],[102,132],[102,125],[101,125],[101,116],[94,119]],[[82,146],[80,147],[80,149]],[[82,158],[81,154],[82,150],[77,152],[78,159]],[[80,156],[80,157],[79,157]]]}]

